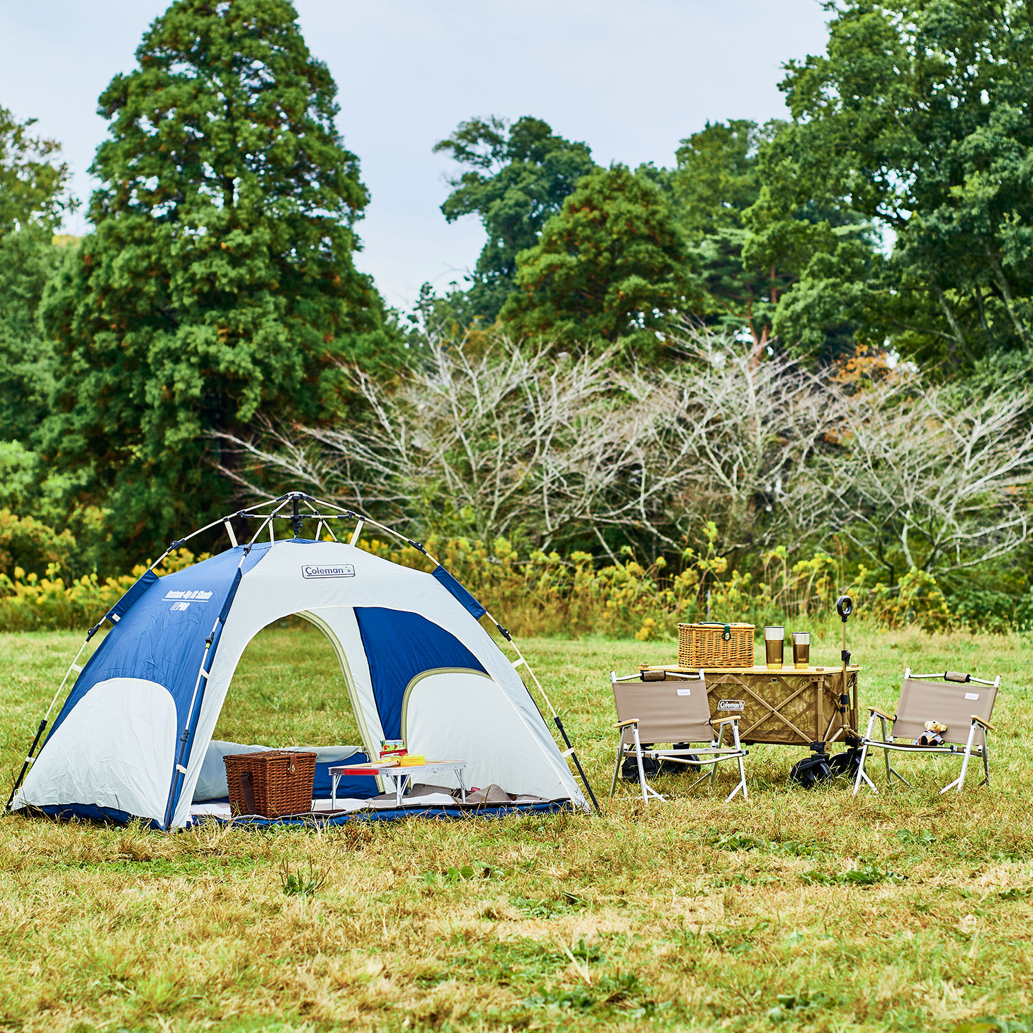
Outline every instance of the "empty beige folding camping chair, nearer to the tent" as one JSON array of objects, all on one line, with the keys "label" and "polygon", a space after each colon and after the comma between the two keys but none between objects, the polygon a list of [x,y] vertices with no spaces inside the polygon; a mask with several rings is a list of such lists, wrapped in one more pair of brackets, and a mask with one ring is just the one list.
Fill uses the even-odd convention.
[{"label": "empty beige folding camping chair, nearer to the tent", "polygon": [[[614,702],[617,706],[617,724],[621,738],[617,744],[617,762],[614,765],[614,781],[609,786],[609,794],[617,789],[617,776],[621,770],[621,761],[633,756],[638,762],[638,783],[641,786],[643,801],[649,803],[651,797],[663,800],[646,781],[643,759],[671,760],[682,764],[709,764],[710,772],[696,779],[692,785],[699,785],[703,779],[714,782],[714,773],[722,760],[739,761],[739,782],[728,793],[727,803],[740,790],[746,800],[746,771],[743,768],[743,757],[747,751],[739,743],[739,718],[726,717],[716,722],[711,721],[710,703],[707,701],[707,682],[703,672],[698,678],[686,678],[677,682],[644,682],[637,675],[618,678],[609,672],[611,685],[614,689]],[[724,746],[724,729],[731,726],[731,746]],[[717,739],[714,729],[717,729]],[[644,747],[647,743],[707,743],[702,748],[656,750]]]}]

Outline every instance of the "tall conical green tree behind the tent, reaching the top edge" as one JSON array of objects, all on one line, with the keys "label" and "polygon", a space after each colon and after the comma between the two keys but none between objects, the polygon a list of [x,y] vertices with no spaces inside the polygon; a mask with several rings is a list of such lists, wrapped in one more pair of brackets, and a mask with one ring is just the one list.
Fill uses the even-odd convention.
[{"label": "tall conical green tree behind the tent, reaching the top edge", "polygon": [[96,230],[43,305],[44,449],[126,557],[226,504],[213,435],[322,418],[339,361],[389,359],[396,340],[353,265],[368,194],[293,6],[176,0],[136,59],[99,101]]}]

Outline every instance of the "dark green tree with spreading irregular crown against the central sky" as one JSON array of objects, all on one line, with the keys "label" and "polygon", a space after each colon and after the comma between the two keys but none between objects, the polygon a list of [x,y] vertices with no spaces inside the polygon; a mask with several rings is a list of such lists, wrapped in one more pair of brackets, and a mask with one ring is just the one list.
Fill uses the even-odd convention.
[{"label": "dark green tree with spreading irregular crown against the central sky", "polygon": [[577,181],[596,168],[586,144],[556,135],[530,116],[463,122],[434,150],[466,170],[451,180],[441,206],[449,222],[477,215],[488,241],[477,258],[468,301],[451,308],[495,320],[515,287],[516,255],[538,242],[546,220],[560,210]]}]

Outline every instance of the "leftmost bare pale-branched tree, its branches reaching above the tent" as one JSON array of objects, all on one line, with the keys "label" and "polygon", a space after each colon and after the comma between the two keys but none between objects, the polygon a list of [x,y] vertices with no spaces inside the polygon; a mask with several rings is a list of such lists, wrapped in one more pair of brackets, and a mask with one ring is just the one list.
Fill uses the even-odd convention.
[{"label": "leftmost bare pale-branched tree, its branches reaching above the tent", "polygon": [[[251,466],[346,504],[484,540],[547,547],[603,524],[650,523],[662,491],[634,484],[652,413],[622,404],[614,354],[557,357],[500,340],[479,357],[433,345],[402,386],[352,371],[366,418],[347,427],[270,425],[223,436]],[[245,467],[247,469],[247,467]],[[236,475],[255,492],[255,478]]]}]

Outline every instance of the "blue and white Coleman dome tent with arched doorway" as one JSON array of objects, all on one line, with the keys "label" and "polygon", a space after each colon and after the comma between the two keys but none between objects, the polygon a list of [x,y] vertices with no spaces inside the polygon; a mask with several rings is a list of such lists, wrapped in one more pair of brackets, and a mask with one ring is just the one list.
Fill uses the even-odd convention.
[{"label": "blue and white Coleman dome tent with arched doorway", "polygon": [[[261,523],[248,544],[236,543],[226,518],[230,549],[163,577],[152,567],[126,593],[104,618],[106,637],[82,668],[72,664],[77,677],[45,739],[37,734],[42,746],[30,751],[11,809],[189,824],[241,655],[291,615],[333,645],[342,705],[346,689],[368,755],[382,739],[404,738],[411,752],[465,760],[468,786],[587,808],[565,759],[572,749],[561,752],[553,739],[521,678],[519,650],[507,658],[481,626],[484,608],[441,566],[426,573],[356,547],[364,519],[348,510],[303,514],[318,521],[313,538],[275,539],[274,519],[288,503],[299,534],[300,501],[315,500],[291,493],[255,514]],[[346,518],[357,521],[351,543],[316,540]],[[270,540],[258,542],[265,530]]]}]

